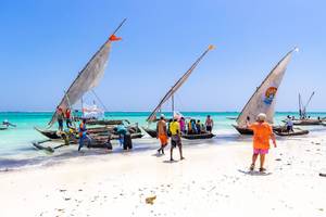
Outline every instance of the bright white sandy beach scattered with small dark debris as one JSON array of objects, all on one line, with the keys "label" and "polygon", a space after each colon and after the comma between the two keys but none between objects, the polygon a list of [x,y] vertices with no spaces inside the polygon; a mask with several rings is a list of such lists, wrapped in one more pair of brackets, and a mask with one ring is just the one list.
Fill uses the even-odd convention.
[{"label": "bright white sandy beach scattered with small dark debris", "polygon": [[[239,171],[250,165],[248,139],[184,151],[176,163],[164,162],[167,150],[162,157],[150,150],[1,173],[0,216],[326,216],[321,133],[279,140],[267,176]],[[154,204],[146,204],[151,195]]]}]

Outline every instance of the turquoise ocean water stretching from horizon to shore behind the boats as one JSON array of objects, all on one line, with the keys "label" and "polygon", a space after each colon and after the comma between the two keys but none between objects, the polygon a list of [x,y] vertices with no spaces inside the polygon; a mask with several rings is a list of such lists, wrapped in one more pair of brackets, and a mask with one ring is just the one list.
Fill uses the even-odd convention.
[{"label": "turquoise ocean water stretching from horizon to shore behind the boats", "polygon": [[[218,136],[220,139],[228,138],[229,136],[237,136],[237,131],[231,127],[235,124],[235,118],[239,113],[237,112],[181,112],[186,117],[193,117],[196,119],[205,120],[206,115],[211,115],[214,119],[214,130],[213,132]],[[110,112],[105,113],[106,118],[111,119],[128,119],[130,123],[138,123],[139,126],[147,126],[146,118],[149,116],[149,112]],[[171,116],[171,113],[165,113],[166,116]],[[298,113],[276,113],[275,124],[281,124],[287,115],[298,116]],[[310,113],[312,117],[326,117],[326,113]],[[52,113],[47,112],[28,112],[28,113],[13,113],[13,112],[2,112],[0,113],[0,122],[8,119],[9,122],[17,125],[16,128],[10,128],[8,130],[0,130],[0,168],[7,165],[7,161],[22,159],[22,158],[35,158],[41,157],[46,158],[47,155],[39,153],[32,142],[45,140],[42,135],[37,132],[34,127],[43,128],[51,118]],[[323,128],[323,126],[319,126]],[[57,126],[53,126],[57,128]],[[326,130],[326,127],[325,127]],[[326,132],[326,131],[325,131]],[[145,138],[140,141],[151,141],[155,140]],[[141,143],[141,142],[138,142]],[[76,148],[73,148],[76,149]],[[2,165],[1,165],[2,164]]]}]

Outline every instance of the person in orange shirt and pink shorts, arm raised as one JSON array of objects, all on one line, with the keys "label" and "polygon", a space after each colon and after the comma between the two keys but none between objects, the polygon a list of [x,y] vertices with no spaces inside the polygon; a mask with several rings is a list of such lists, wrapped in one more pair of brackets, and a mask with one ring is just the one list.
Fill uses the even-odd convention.
[{"label": "person in orange shirt and pink shorts, arm raised", "polygon": [[248,128],[253,131],[253,154],[252,154],[252,163],[250,166],[250,170],[254,169],[254,165],[258,156],[260,155],[261,167],[260,171],[265,171],[264,163],[265,155],[269,150],[269,139],[272,139],[274,148],[276,148],[275,135],[273,133],[272,126],[265,122],[266,115],[261,113],[256,117],[256,122],[253,124],[248,124]]}]

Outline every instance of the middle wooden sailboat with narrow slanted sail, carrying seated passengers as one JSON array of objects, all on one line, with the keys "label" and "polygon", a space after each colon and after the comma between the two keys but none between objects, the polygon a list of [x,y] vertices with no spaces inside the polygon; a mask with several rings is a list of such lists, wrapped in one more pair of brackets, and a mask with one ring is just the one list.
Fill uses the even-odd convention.
[{"label": "middle wooden sailboat with narrow slanted sail, carrying seated passengers", "polygon": [[[214,47],[210,46],[197,59],[197,61],[190,66],[190,68],[177,80],[177,82],[166,92],[166,94],[163,97],[163,99],[160,101],[160,103],[156,105],[156,107],[152,111],[152,113],[147,118],[147,122],[149,124],[156,122],[156,113],[161,111],[162,105],[172,99],[172,112],[175,113],[174,110],[174,94],[175,92],[186,82],[186,80],[189,78],[196,66],[200,63],[200,61],[208,54],[210,50],[212,50]],[[156,138],[156,130],[153,130],[149,127],[143,127],[143,130],[151,136],[152,138]],[[200,135],[181,135],[185,139],[209,139],[214,137],[211,132],[200,133]]]}]

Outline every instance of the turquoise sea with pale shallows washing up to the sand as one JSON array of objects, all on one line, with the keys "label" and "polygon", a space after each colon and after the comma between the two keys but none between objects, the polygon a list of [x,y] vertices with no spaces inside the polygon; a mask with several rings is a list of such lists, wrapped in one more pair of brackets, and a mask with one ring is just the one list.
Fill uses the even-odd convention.
[{"label": "turquoise sea with pale shallows washing up to the sand", "polygon": [[[147,126],[146,118],[148,117],[149,112],[112,112],[105,113],[106,118],[112,119],[128,119],[130,123],[138,123],[139,126]],[[227,113],[216,113],[216,112],[184,112],[186,117],[192,117],[196,119],[200,119],[204,122],[206,115],[211,115],[214,119],[214,130],[213,132],[217,135],[217,137],[213,140],[213,143],[225,143],[226,141],[233,141],[239,138],[237,131],[231,127],[231,124],[235,124],[235,118],[238,116],[236,112],[227,112]],[[71,146],[59,154],[51,154],[37,151],[32,142],[35,140],[45,140],[43,136],[37,132],[34,127],[45,127],[49,119],[51,118],[52,113],[48,112],[28,112],[28,113],[0,113],[0,122],[3,119],[8,119],[9,122],[17,125],[16,128],[11,128],[9,130],[0,130],[0,169],[11,166],[21,166],[28,164],[28,159],[33,159],[29,162],[30,164],[37,164],[42,162],[43,159],[49,158],[49,156],[54,156],[55,159],[61,159],[67,156],[73,155],[75,153],[75,146]],[[171,116],[171,113],[165,113],[166,116]],[[275,115],[275,124],[281,124],[281,119],[284,119],[287,115],[296,115],[297,113],[276,113]],[[326,113],[311,113],[309,114],[312,117],[325,117]],[[55,128],[54,126],[53,128]],[[313,132],[324,133],[326,127],[305,127],[311,129]],[[193,142],[192,142],[193,143]],[[197,141],[195,143],[200,143]],[[208,143],[208,140],[205,140]],[[139,139],[135,142],[135,148],[138,151],[146,149],[155,148],[156,140],[151,138]],[[191,142],[190,142],[191,144]],[[117,144],[114,144],[117,145]],[[91,152],[92,154],[99,154],[97,152]]]}]

